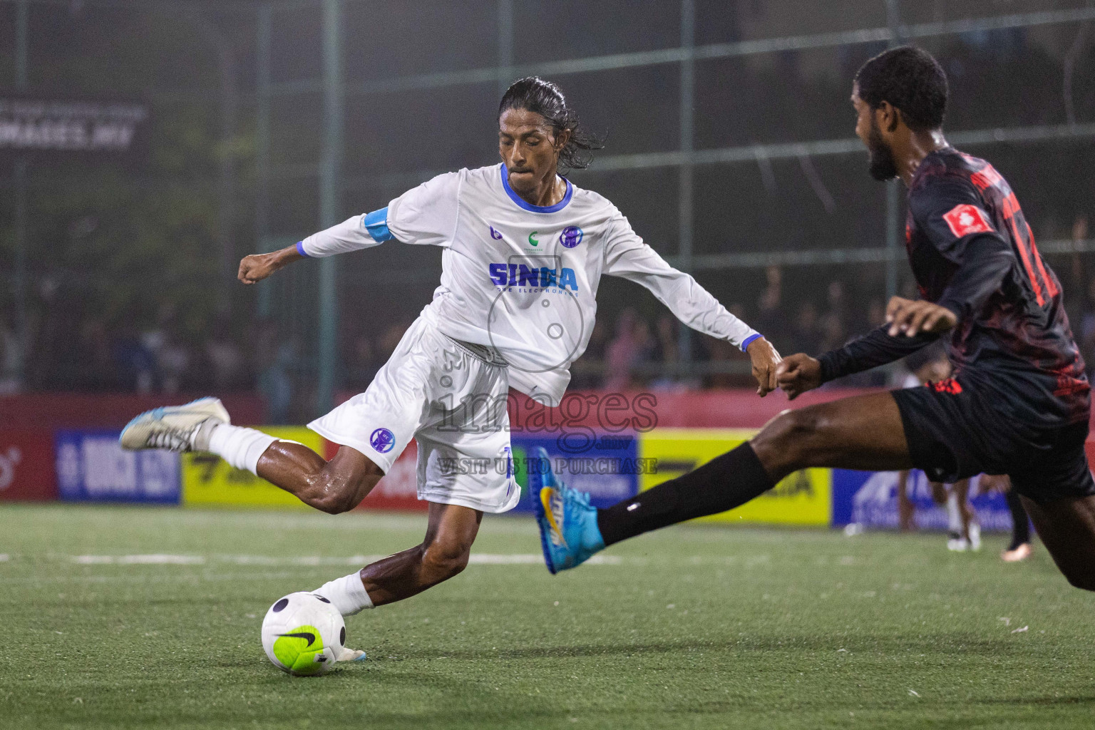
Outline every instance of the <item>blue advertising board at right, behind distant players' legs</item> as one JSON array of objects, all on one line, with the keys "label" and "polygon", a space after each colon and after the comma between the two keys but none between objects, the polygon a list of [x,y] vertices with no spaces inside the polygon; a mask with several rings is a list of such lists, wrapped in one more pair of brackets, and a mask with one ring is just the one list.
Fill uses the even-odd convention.
[{"label": "blue advertising board at right, behind distant players' legs", "polygon": [[[898,528],[898,476],[900,472],[853,472],[832,470],[832,524],[850,523],[863,528],[896,530]],[[920,470],[909,473],[907,486],[913,506],[914,521],[921,530],[947,529],[944,507],[932,501],[932,488]],[[1003,495],[991,491],[981,494],[980,479],[969,484],[970,503],[977,512],[981,530],[1007,531],[1012,529],[1012,514]]]}]

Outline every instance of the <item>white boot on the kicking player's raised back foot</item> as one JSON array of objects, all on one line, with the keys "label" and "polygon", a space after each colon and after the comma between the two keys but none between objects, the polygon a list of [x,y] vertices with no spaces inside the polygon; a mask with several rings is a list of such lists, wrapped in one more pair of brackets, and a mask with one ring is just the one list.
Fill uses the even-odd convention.
[{"label": "white boot on the kicking player's raised back foot", "polygon": [[182,406],[162,406],[146,410],[126,424],[118,437],[123,449],[165,449],[166,451],[207,451],[209,428],[203,424],[231,424],[219,398],[198,398]]}]

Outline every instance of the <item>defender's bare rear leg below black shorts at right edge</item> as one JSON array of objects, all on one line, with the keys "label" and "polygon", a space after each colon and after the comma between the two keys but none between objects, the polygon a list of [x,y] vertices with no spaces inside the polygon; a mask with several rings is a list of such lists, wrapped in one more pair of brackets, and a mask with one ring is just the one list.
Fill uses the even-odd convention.
[{"label": "defender's bare rear leg below black shorts at right edge", "polygon": [[1021,497],[1042,544],[1069,582],[1095,591],[1095,497],[1039,505]]}]

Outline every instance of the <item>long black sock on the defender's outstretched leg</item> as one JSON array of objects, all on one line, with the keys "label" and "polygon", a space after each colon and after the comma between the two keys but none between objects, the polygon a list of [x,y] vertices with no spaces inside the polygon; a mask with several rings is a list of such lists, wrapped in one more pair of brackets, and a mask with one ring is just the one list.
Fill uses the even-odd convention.
[{"label": "long black sock on the defender's outstretched leg", "polygon": [[606,545],[650,530],[740,507],[774,486],[748,442],[694,472],[597,510]]}]

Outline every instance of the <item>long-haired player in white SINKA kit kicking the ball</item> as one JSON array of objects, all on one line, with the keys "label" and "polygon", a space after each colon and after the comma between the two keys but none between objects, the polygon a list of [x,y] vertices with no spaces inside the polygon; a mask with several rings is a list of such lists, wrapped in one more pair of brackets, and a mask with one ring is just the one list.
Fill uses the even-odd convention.
[{"label": "long-haired player in white SINKA kit kicking the ball", "polygon": [[611,202],[557,174],[561,164],[585,166],[593,141],[554,84],[521,79],[499,106],[502,164],[439,175],[387,208],[241,262],[240,280],[254,283],[291,262],[391,240],[443,250],[433,301],[368,390],[309,424],[341,445],[330,462],[230,426],[212,398],[139,416],[123,445],[211,451],[338,513],[355,508],[416,439],[426,537],[316,590],[348,615],[457,575],[483,512],[517,505],[506,395],[512,386],[560,403],[593,328],[601,275],[643,285],[684,324],[739,346],[758,393],[773,390],[775,349],[643,243]]}]

